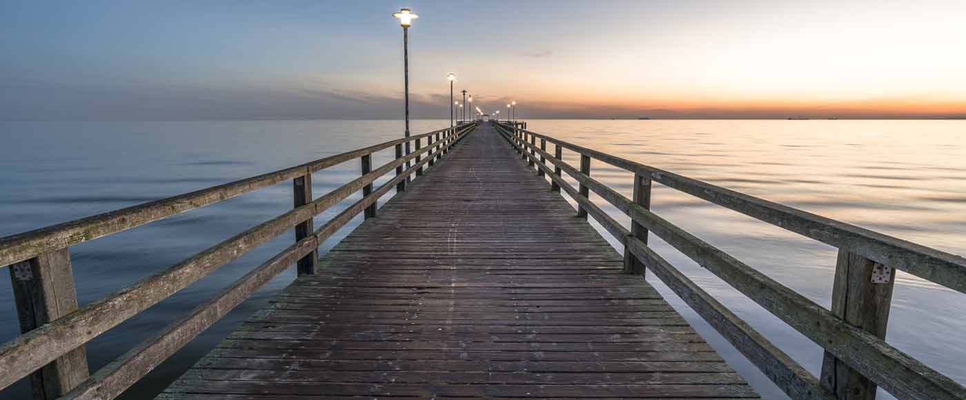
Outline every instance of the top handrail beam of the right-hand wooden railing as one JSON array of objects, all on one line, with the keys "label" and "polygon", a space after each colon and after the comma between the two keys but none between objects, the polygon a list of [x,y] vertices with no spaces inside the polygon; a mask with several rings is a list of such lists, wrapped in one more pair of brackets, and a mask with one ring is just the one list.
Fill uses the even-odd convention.
[{"label": "top handrail beam of the right-hand wooden railing", "polygon": [[[512,128],[507,127],[507,129]],[[714,186],[627,158],[611,156],[530,130],[519,128],[517,130],[546,139],[582,156],[599,159],[638,175],[650,176],[655,182],[729,210],[752,216],[821,243],[862,254],[877,263],[907,271],[933,283],[966,293],[966,258],[964,257],[725,187]]]}]

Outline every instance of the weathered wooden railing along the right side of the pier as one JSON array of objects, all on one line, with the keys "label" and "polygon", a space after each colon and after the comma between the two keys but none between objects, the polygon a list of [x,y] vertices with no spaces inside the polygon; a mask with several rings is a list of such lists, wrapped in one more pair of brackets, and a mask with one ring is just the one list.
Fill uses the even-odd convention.
[{"label": "weathered wooden railing along the right side of the pier", "polygon": [[[563,188],[577,202],[578,216],[586,218],[590,214],[624,245],[626,272],[643,274],[646,266],[789,397],[866,400],[874,399],[876,386],[881,386],[900,399],[966,399],[966,388],[884,340],[895,284],[893,269],[966,292],[966,259],[587,149],[519,126],[498,124],[497,129],[522,157],[528,159],[529,165],[536,166],[538,174],[551,178],[551,190]],[[538,138],[539,146],[536,145]],[[547,152],[547,142],[554,144],[554,154]],[[580,169],[563,161],[562,149],[580,155]],[[624,197],[592,179],[592,159],[633,173],[633,198]],[[553,164],[553,169],[547,165],[548,161]],[[568,184],[561,177],[561,171],[573,177],[579,187]],[[838,247],[832,309],[795,293],[651,213],[653,182]],[[587,197],[591,190],[629,215],[631,229],[594,205]],[[821,346],[825,357],[820,379],[652,251],[647,246],[648,232],[712,271]],[[957,333],[961,332],[951,332]]]}]

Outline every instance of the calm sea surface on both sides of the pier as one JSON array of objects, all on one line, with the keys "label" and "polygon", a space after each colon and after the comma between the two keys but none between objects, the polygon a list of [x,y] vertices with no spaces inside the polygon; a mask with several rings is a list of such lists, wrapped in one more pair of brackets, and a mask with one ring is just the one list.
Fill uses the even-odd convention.
[{"label": "calm sea surface on both sides of the pier", "polygon": [[[413,132],[447,121],[417,121]],[[0,123],[0,236],[213,186],[400,136],[393,121]],[[963,121],[560,121],[531,130],[668,169],[811,213],[840,219],[954,254],[966,254],[966,122]],[[374,161],[392,157],[382,152]],[[572,164],[577,157],[564,152]],[[632,177],[595,163],[592,175],[627,195]],[[355,162],[317,173],[316,195],[358,174]],[[384,182],[384,181],[383,181]],[[378,185],[378,183],[377,183]],[[81,303],[97,300],[291,208],[280,184],[71,247]],[[327,220],[357,195],[317,218]],[[629,224],[600,198],[595,202]],[[655,185],[652,209],[782,284],[828,306],[833,247]],[[360,220],[329,240],[334,245]],[[186,310],[292,243],[266,243],[88,346],[92,370],[120,356]],[[605,237],[608,235],[605,234]],[[609,238],[610,239],[610,238]],[[612,242],[612,241],[611,241]],[[821,351],[753,301],[698,268],[668,244],[652,246],[782,350],[817,373]],[[614,243],[615,246],[619,244]],[[128,398],[153,396],[294,278],[287,271],[185,349]],[[758,388],[781,398],[660,281],[659,288],[709,342]],[[887,340],[966,383],[963,295],[900,272]],[[17,334],[8,279],[0,279],[0,340]],[[14,386],[0,398],[20,398]],[[880,398],[889,398],[881,396]]]}]

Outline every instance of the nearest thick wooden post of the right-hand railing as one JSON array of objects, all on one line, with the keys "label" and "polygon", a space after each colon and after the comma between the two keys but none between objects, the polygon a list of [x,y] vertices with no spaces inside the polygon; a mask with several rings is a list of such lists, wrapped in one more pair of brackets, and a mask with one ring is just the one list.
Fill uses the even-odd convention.
[{"label": "nearest thick wooden post of the right-hand railing", "polygon": [[[885,339],[894,285],[892,268],[838,249],[831,311],[846,323]],[[875,399],[875,384],[828,352],[822,359],[821,383],[839,399]]]}]

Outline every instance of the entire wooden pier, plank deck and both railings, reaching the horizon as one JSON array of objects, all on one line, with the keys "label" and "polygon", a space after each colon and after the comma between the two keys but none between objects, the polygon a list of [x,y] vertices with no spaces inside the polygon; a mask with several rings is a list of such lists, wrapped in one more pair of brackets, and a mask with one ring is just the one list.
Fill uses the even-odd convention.
[{"label": "entire wooden pier, plank deck and both railings, reaching the horizon", "polygon": [[[409,143],[415,150],[405,154]],[[373,165],[372,155],[384,151],[394,151],[393,160]],[[580,164],[565,162],[564,152]],[[359,165],[359,178],[312,192],[313,172],[344,162]],[[633,189],[595,180],[600,164],[632,173]],[[290,212],[78,307],[72,275],[87,271],[72,271],[71,245],[285,183],[293,187],[294,201],[284,200],[293,201]],[[838,247],[831,309],[651,213],[652,185]],[[347,209],[313,225],[313,216],[360,191]],[[630,225],[590,201],[591,191]],[[317,254],[359,214],[363,223]],[[89,370],[85,343],[292,228],[290,247]],[[652,251],[648,236],[820,346],[821,370],[788,357]],[[963,258],[557,140],[522,122],[460,124],[3,238],[0,266],[10,271],[22,331],[0,347],[0,387],[28,379],[35,399],[120,395],[292,266],[298,278],[289,287],[158,398],[758,398],[646,273],[793,399],[873,399],[876,387],[900,399],[966,399],[963,386],[884,340],[895,271],[966,292]]]}]

